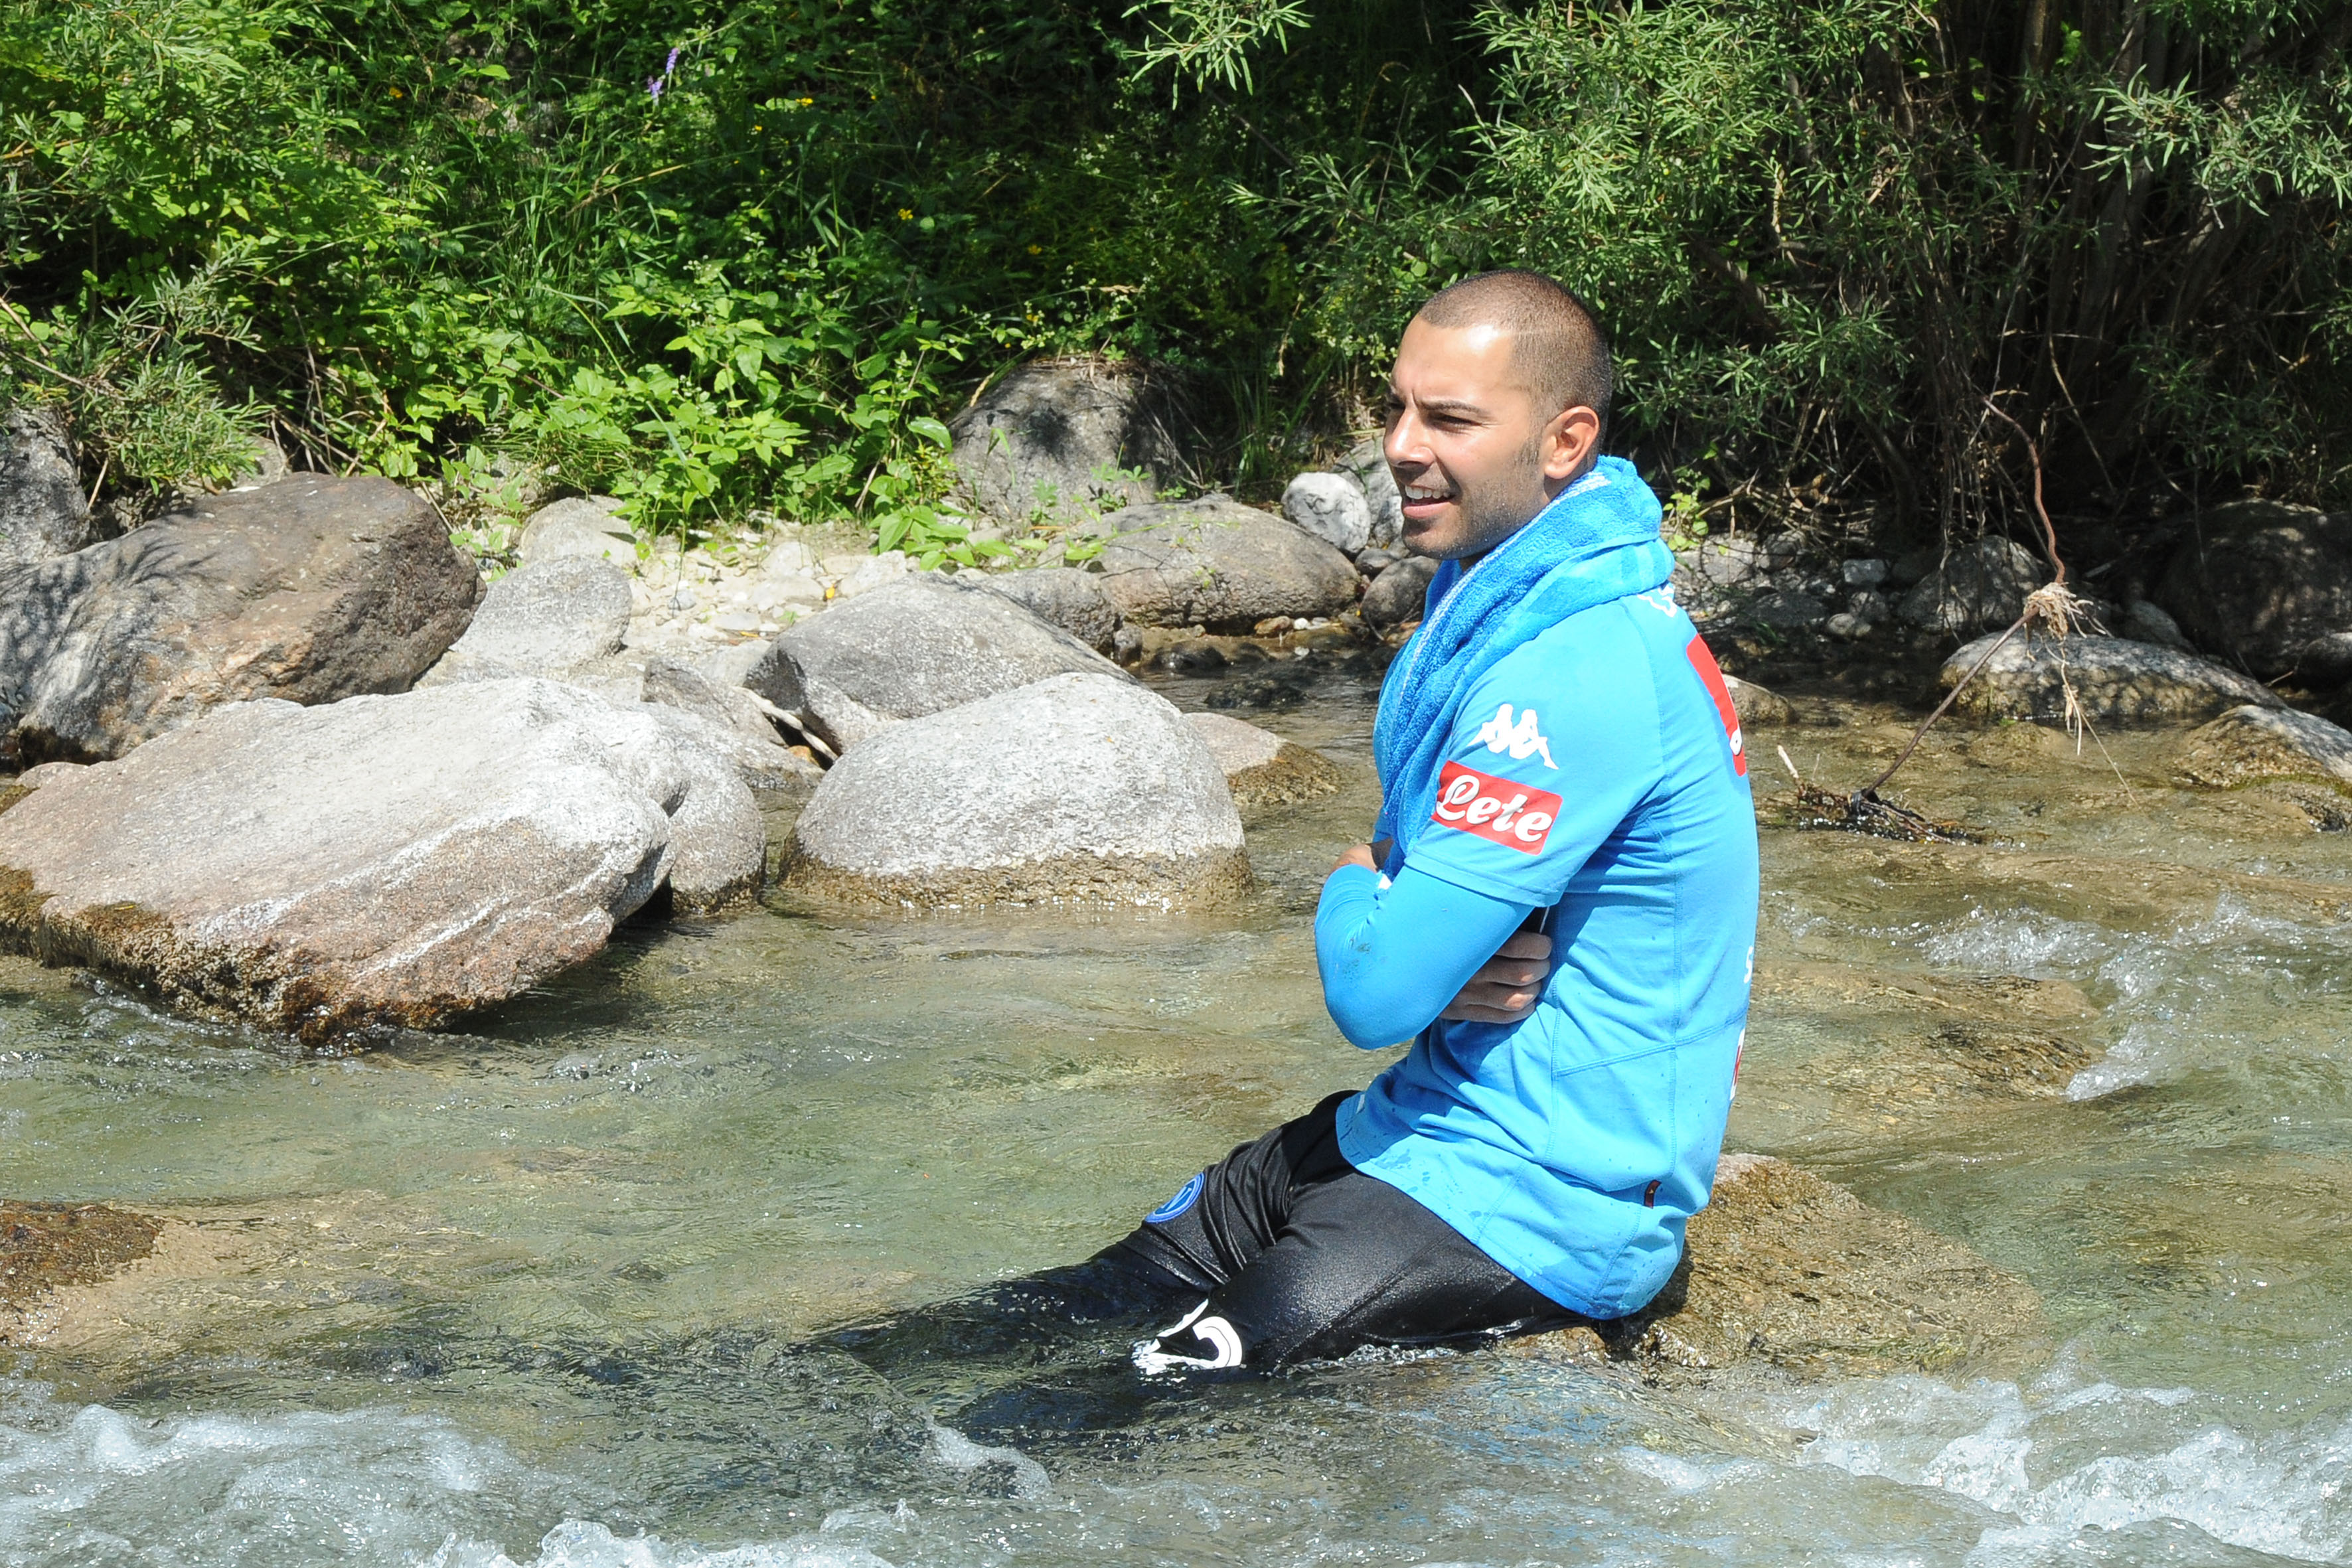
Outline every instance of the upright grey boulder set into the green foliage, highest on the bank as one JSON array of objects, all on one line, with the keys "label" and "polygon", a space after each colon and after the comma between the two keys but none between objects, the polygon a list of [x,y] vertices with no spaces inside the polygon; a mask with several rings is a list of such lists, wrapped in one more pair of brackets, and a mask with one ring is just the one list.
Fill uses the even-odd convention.
[{"label": "upright grey boulder set into the green foliage, highest on the bank", "polygon": [[1073,522],[1150,501],[1183,470],[1174,381],[1131,362],[1023,364],[948,430],[964,498],[1004,524]]}]

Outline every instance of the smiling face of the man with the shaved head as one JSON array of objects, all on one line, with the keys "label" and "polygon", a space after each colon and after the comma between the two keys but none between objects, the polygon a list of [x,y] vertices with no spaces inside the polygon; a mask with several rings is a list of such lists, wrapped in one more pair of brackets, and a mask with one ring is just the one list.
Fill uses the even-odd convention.
[{"label": "smiling face of the man with the shaved head", "polygon": [[1404,548],[1484,555],[1583,473],[1597,437],[1592,409],[1536,404],[1508,331],[1416,317],[1388,376],[1385,456],[1404,498]]}]

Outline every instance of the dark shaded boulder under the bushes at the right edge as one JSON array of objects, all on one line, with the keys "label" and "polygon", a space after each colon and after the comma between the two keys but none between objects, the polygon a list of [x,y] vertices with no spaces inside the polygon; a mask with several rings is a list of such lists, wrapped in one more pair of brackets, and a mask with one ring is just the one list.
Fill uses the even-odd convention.
[{"label": "dark shaded boulder under the bushes at the right edge", "polygon": [[2277,501],[2220,505],[2173,552],[2154,590],[2197,646],[2284,675],[2300,649],[2352,630],[2352,512]]}]

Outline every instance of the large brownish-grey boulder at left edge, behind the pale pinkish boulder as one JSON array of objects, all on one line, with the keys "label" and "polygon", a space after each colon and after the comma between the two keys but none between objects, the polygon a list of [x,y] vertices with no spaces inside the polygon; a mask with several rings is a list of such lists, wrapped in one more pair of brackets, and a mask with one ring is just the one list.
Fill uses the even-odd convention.
[{"label": "large brownish-grey boulder at left edge, behind the pale pinkish boulder", "polygon": [[0,764],[120,757],[256,696],[407,691],[480,592],[430,505],[325,475],[0,567]]}]

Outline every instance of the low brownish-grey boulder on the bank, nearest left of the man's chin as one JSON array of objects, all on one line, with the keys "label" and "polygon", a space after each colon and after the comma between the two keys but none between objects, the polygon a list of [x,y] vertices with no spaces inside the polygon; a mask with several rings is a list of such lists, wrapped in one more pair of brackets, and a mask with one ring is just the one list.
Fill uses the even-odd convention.
[{"label": "low brownish-grey boulder on the bank, nearest left of the man's chin", "polygon": [[1096,524],[1103,592],[1136,625],[1247,632],[1272,616],[1336,616],[1355,567],[1305,529],[1223,496],[1134,505]]}]

